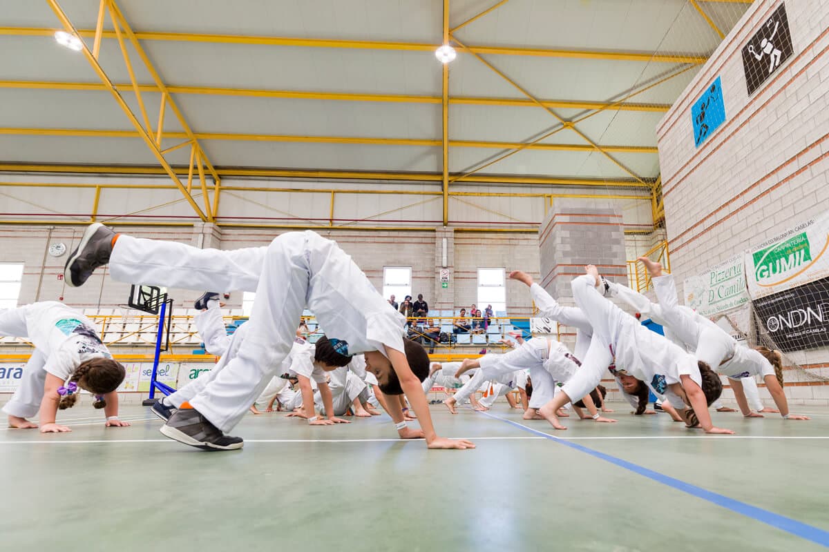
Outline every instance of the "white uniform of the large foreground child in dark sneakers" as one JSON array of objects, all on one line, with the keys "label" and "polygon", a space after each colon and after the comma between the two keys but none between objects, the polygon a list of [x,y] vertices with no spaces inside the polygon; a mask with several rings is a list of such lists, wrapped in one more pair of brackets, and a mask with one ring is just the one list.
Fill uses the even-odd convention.
[{"label": "white uniform of the large foreground child in dark sneakers", "polygon": [[306,306],[329,337],[348,343],[351,354],[404,351],[403,315],[336,242],[311,231],[232,251],[121,235],[109,271],[114,280],[134,284],[256,292],[250,320],[241,327],[247,329],[245,347],[211,372],[210,382],[189,401],[225,433],[277,375]]}]

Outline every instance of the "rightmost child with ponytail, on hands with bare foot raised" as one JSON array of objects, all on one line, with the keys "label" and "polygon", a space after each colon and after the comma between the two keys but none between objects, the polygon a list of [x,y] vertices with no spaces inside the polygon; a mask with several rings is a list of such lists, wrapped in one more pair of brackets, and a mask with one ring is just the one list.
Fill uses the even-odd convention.
[{"label": "rightmost child with ponytail, on hands with bare foot raised", "polygon": [[784,419],[808,420],[807,416],[789,414],[788,402],[783,393],[783,358],[779,351],[740,346],[717,324],[687,307],[677,305],[673,276],[662,274],[661,264],[647,257],[639,257],[638,261],[651,273],[653,288],[657,292],[659,306],[662,307],[662,318],[667,322],[671,332],[695,351],[694,356],[697,360],[705,362],[715,372],[729,377],[734,388],[734,398],[744,417],[763,417],[749,408],[743,392],[743,383],[740,381],[742,377],[759,375],[763,377],[766,388]]}]

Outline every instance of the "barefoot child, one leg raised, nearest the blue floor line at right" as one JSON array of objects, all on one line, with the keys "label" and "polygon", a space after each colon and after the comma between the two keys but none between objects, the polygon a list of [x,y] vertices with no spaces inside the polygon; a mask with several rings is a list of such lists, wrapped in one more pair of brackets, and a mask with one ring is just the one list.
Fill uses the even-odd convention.
[{"label": "barefoot child, one leg raised, nearest the blue floor line at right", "polygon": [[720,377],[604,299],[597,289],[602,286],[599,271],[593,265],[586,266],[585,270],[587,274],[575,278],[571,286],[576,305],[593,326],[593,338],[581,369],[565,382],[560,396],[541,408],[541,415],[556,430],[566,430],[555,416],[555,410],[570,401],[571,396],[584,396],[593,389],[615,358],[614,376],[630,375],[646,382],[654,391],[667,396],[671,406],[689,425],[696,425],[698,421],[707,433],[734,433],[715,427],[708,413],[708,406],[722,392]]}]

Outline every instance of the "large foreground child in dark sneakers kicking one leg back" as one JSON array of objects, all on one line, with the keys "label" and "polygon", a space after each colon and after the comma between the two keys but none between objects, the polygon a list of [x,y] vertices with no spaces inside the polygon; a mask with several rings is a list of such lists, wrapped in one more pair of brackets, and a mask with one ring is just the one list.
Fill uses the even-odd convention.
[{"label": "large foreground child in dark sneakers kicking one leg back", "polygon": [[[409,396],[421,430],[407,427],[402,412],[392,409],[401,438],[424,437],[430,449],[473,448],[467,440],[443,439],[434,431],[420,387],[429,371],[428,355],[418,344],[404,342],[402,315],[389,308],[336,242],[310,231],[289,232],[267,247],[221,251],[133,238],[95,223],[69,256],[65,281],[82,286],[97,267],[108,263],[117,281],[256,292],[250,320],[242,326],[247,327],[245,347],[170,416],[161,430],[170,439],[207,450],[240,449],[243,439],[226,432],[278,375],[296,321],[308,307],[326,329],[335,353],[365,353],[366,369],[376,375],[386,395]],[[411,362],[424,364],[420,379]]]}]

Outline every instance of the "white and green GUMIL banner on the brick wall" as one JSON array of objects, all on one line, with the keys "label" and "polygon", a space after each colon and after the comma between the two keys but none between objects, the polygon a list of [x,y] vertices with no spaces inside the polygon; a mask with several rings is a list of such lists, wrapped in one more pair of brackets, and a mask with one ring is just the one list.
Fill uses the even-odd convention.
[{"label": "white and green GUMIL banner on the brick wall", "polygon": [[829,276],[829,214],[811,218],[746,252],[749,295],[759,299]]}]

